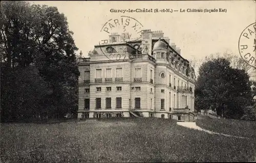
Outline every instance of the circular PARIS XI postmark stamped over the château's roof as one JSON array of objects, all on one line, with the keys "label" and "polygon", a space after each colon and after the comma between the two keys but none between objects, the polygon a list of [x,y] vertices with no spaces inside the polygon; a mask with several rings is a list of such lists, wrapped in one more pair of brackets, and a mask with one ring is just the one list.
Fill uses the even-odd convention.
[{"label": "circular PARIS XI postmark stamped over the ch\u00e2teau's roof", "polygon": [[108,20],[100,30],[101,36],[104,38],[99,41],[99,47],[103,55],[109,60],[125,60],[134,61],[132,55],[139,49],[139,45],[134,44],[133,47],[125,45],[126,42],[136,41],[141,37],[143,25],[133,17],[120,16]]}]

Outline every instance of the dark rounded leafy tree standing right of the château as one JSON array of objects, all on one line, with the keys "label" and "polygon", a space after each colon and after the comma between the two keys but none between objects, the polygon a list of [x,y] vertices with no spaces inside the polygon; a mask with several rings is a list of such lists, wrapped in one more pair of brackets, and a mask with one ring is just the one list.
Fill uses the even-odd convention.
[{"label": "dark rounded leafy tree standing right of the ch\u00e2teau", "polygon": [[240,118],[243,108],[252,104],[251,82],[245,70],[235,69],[225,58],[204,62],[196,81],[197,108],[212,106],[217,115]]}]

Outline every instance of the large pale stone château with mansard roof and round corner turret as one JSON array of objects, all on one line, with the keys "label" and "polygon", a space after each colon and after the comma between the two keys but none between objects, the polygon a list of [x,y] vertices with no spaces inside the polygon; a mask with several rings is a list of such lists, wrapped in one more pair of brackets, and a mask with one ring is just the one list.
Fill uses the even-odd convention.
[{"label": "large pale stone ch\u00e2teau with mansard roof and round corner turret", "polygon": [[194,116],[194,69],[162,31],[113,33],[78,66],[78,118]]}]

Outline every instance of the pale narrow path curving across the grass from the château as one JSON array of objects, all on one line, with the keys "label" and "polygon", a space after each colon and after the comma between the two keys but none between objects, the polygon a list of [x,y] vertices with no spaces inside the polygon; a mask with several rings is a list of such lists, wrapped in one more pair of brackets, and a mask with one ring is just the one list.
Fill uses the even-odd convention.
[{"label": "pale narrow path curving across the grass from the ch\u00e2teau", "polygon": [[177,122],[178,125],[183,126],[183,127],[187,127],[187,128],[192,128],[192,129],[197,129],[200,131],[205,131],[209,134],[219,134],[219,135],[223,135],[225,137],[234,137],[234,138],[241,138],[241,139],[249,139],[249,138],[245,138],[245,137],[237,137],[234,135],[229,135],[229,134],[224,134],[224,133],[219,133],[219,132],[212,132],[206,129],[203,129],[199,126],[197,126],[196,122]]}]

